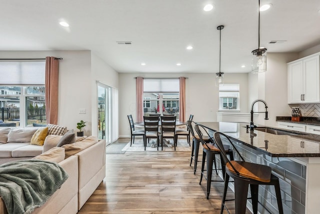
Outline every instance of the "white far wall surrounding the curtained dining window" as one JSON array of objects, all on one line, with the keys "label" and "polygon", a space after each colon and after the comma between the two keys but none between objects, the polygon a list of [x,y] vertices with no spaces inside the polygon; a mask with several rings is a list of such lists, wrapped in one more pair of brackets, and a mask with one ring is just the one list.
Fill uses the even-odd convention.
[{"label": "white far wall surrounding the curtained dining window", "polygon": [[[142,77],[188,77],[185,81],[186,117],[193,114],[194,121],[216,121],[219,108],[218,88],[213,73],[119,73],[119,136],[130,135],[128,114],[136,118],[135,78]],[[240,109],[247,112],[247,73],[225,73],[225,83],[240,83]],[[243,102],[242,102],[243,98]]]}]

